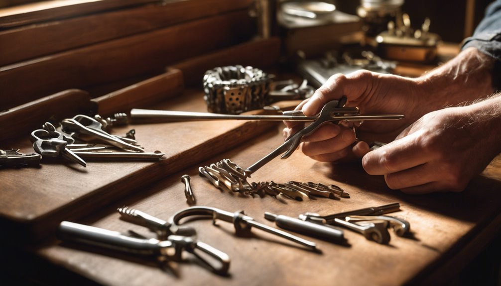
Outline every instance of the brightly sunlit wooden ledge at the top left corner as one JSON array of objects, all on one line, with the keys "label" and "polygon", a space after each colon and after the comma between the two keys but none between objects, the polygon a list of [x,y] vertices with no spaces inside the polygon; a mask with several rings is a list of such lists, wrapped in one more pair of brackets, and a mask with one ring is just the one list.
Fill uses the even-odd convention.
[{"label": "brightly sunlit wooden ledge at the top left corner", "polygon": [[158,0],[50,0],[0,9],[0,27],[83,15]]}]

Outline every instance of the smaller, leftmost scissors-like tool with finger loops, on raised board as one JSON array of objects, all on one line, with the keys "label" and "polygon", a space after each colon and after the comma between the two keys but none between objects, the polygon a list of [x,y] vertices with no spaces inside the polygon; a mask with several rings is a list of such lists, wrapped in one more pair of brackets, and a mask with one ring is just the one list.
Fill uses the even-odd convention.
[{"label": "smaller, leftmost scissors-like tool with finger loops, on raised board", "polygon": [[87,166],[87,163],[72,150],[67,148],[68,142],[58,138],[51,138],[50,132],[45,129],[37,129],[31,133],[33,148],[42,156],[59,157]]}]

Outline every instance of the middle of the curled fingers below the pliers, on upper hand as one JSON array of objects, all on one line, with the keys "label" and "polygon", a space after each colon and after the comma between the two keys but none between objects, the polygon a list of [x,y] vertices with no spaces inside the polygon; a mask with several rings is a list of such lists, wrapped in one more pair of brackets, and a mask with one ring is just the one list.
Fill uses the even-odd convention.
[{"label": "middle of the curled fingers below the pliers, on upper hand", "polygon": [[345,149],[355,141],[355,133],[353,130],[345,128],[341,133],[334,137],[323,141],[303,142],[302,150],[307,156],[315,156],[320,154],[334,153]]}]

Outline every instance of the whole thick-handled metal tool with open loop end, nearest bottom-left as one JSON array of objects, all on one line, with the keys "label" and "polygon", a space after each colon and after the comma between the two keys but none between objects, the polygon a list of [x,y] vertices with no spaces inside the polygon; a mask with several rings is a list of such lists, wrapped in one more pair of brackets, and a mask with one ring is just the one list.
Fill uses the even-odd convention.
[{"label": "whole thick-handled metal tool with open loop end, nearest bottom-left", "polygon": [[[137,238],[123,235],[118,231],[111,231],[90,225],[63,221],[58,228],[58,236],[64,240],[84,242],[91,245],[106,247],[132,254],[154,256],[160,261],[165,259],[182,261],[183,250],[194,254],[201,262],[213,271],[226,274],[229,269],[229,256],[191,236],[169,235],[165,240],[156,238]],[[206,259],[198,253],[208,254],[211,259]],[[213,263],[214,260],[216,263]]]}]

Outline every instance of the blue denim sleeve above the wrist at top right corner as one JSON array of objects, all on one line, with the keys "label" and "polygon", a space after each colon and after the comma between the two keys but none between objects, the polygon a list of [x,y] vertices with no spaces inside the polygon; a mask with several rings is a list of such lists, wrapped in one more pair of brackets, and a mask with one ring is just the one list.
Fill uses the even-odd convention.
[{"label": "blue denim sleeve above the wrist at top right corner", "polygon": [[471,46],[501,61],[501,0],[489,4],[473,35],[464,39],[462,49]]}]

